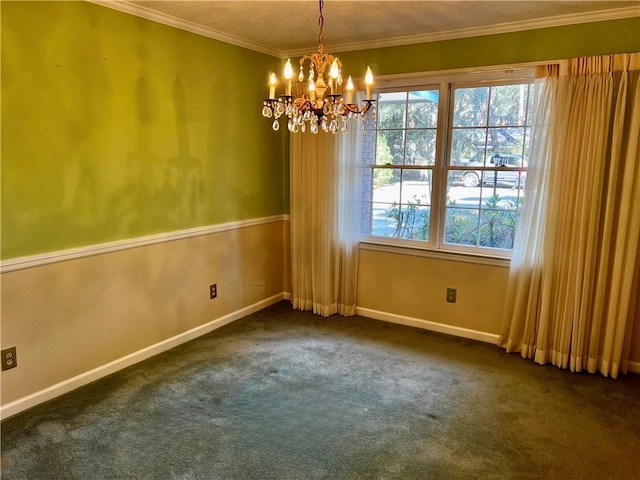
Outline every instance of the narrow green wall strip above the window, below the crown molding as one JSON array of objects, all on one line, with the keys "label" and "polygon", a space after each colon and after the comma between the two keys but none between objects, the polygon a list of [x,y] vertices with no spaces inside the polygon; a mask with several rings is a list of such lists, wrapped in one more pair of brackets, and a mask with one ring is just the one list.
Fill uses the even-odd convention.
[{"label": "narrow green wall strip above the window, below the crown molding", "polygon": [[640,51],[640,17],[340,53],[344,70],[364,75],[560,60]]}]

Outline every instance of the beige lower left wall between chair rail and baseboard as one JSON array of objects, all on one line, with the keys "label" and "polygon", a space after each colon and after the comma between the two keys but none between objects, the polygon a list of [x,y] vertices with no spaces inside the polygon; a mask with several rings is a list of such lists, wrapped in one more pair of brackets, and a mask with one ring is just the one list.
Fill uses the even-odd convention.
[{"label": "beige lower left wall between chair rail and baseboard", "polygon": [[3,273],[2,348],[18,367],[2,372],[2,405],[281,294],[285,225]]}]

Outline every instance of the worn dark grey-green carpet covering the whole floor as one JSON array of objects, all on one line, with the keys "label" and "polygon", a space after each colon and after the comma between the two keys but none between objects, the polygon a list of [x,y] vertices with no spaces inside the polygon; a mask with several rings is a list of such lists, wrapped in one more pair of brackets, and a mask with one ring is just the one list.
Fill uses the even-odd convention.
[{"label": "worn dark grey-green carpet covering the whole floor", "polygon": [[640,376],[287,302],[2,424],[3,479],[640,479]]}]

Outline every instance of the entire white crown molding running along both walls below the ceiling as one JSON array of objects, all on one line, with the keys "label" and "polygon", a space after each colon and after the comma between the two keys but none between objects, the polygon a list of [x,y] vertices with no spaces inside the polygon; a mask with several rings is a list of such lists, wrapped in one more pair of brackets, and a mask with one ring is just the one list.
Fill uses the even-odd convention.
[{"label": "entire white crown molding running along both walls below the ceiling", "polygon": [[[127,0],[87,0],[97,5],[119,10],[124,13],[145,18],[157,23],[162,23],[171,27],[196,33],[204,37],[213,38],[221,42],[229,43],[256,52],[265,53],[279,58],[298,57],[309,53],[316,48],[315,45],[294,50],[277,50],[266,45],[251,42],[233,35],[229,35],[218,30],[204,27],[187,20],[183,20],[171,15],[157,12],[155,10],[129,3]],[[479,37],[485,35],[496,35],[501,33],[513,33],[524,30],[536,30],[540,28],[561,27],[565,25],[575,25],[580,23],[602,22],[607,20],[619,20],[623,18],[640,17],[640,6],[624,7],[610,10],[599,10],[595,12],[575,13],[568,15],[558,15],[554,17],[538,18],[533,20],[522,20],[518,22],[500,23],[496,25],[462,28],[457,30],[447,30],[444,32],[425,33],[419,35],[406,35],[394,38],[385,38],[365,42],[352,42],[342,44],[326,44],[325,50],[332,52],[347,52],[354,50],[368,50],[372,48],[397,47],[401,45],[411,45],[416,43],[438,42],[443,40],[455,40],[458,38]]]}]

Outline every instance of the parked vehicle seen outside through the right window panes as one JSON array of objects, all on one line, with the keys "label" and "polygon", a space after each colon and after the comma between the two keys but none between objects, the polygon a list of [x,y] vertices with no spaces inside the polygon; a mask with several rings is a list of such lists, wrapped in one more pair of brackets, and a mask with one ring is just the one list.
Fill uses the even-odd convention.
[{"label": "parked vehicle seen outside through the right window panes", "polygon": [[[489,163],[500,170],[460,170],[458,179],[465,187],[477,187],[480,179],[485,185],[524,187],[527,172],[522,169],[527,168],[526,160],[520,155],[505,153],[495,153],[489,158]],[[469,163],[468,165],[482,165],[481,163]],[[522,173],[520,173],[522,172]]]}]

